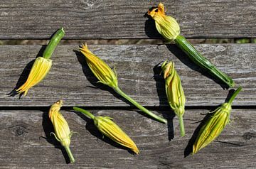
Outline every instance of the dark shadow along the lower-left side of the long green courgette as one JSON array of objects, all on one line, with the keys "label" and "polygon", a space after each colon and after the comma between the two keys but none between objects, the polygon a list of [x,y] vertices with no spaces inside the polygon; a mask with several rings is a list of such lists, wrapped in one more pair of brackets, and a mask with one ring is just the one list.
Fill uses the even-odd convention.
[{"label": "dark shadow along the lower-left side of the long green courgette", "polygon": [[183,62],[183,64],[187,65],[188,67],[190,67],[192,70],[195,70],[196,72],[200,72],[201,75],[204,75],[208,78],[210,78],[211,80],[213,80],[214,82],[218,83],[220,85],[220,87],[222,87],[223,89],[228,89],[228,85],[227,84],[223,84],[223,82],[220,82],[220,80],[216,79],[215,77],[213,77],[212,75],[210,75],[208,72],[206,72],[206,70],[203,70],[201,67],[199,67],[198,65],[196,65],[192,60],[190,60],[188,58],[188,56],[186,55],[186,53],[184,53],[180,48],[178,48],[178,46],[176,45],[166,45],[166,47],[171,51],[171,53],[173,53],[179,60],[181,60],[181,62]]}]

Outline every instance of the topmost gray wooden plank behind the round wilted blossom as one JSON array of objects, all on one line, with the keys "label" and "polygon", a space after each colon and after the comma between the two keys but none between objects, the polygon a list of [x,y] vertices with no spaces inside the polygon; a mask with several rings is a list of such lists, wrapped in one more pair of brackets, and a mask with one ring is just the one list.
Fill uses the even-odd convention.
[{"label": "topmost gray wooden plank behind the round wilted blossom", "polygon": [[[256,37],[256,1],[161,1],[189,38]],[[159,38],[144,17],[156,1],[1,1],[0,39]],[[145,27],[146,26],[146,27]]]}]

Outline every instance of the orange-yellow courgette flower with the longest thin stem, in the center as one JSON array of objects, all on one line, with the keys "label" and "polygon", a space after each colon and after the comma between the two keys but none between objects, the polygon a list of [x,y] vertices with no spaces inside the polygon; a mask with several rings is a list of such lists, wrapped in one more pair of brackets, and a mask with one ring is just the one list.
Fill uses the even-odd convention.
[{"label": "orange-yellow courgette flower with the longest thin stem, in the center", "polygon": [[131,97],[127,96],[127,94],[122,92],[122,90],[118,87],[117,73],[115,71],[113,72],[110,66],[107,65],[107,63],[105,63],[103,60],[94,55],[87,48],[86,44],[82,45],[82,48],[79,48],[79,50],[83,55],[85,55],[87,65],[90,67],[90,70],[92,70],[92,73],[97,77],[97,79],[100,80],[99,82],[106,84],[109,87],[112,87],[112,89],[114,89],[115,92],[117,92],[122,97],[127,99],[129,102],[134,104],[135,107],[142,110],[147,115],[151,116],[157,121],[160,121],[161,123],[167,123],[166,119],[163,119],[160,116],[156,116],[156,114],[152,113],[145,107],[142,107],[142,105],[140,105],[134,99],[132,99]]}]

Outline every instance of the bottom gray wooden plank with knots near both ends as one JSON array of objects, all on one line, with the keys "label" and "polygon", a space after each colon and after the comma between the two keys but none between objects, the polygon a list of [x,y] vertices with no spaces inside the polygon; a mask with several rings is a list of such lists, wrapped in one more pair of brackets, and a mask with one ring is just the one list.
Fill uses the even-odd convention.
[{"label": "bottom gray wooden plank with knots near both ends", "polygon": [[[135,111],[94,110],[97,116],[112,116],[137,143],[139,156],[103,138],[82,115],[62,111],[70,129],[78,131],[71,141],[76,162],[66,165],[65,157],[48,120],[48,110],[0,111],[0,168],[254,168],[255,109],[234,109],[231,126],[194,156],[186,156],[188,141],[208,110],[186,110],[186,136],[179,136],[178,120],[169,112],[169,125],[152,121]],[[87,122],[86,122],[87,121]],[[129,123],[127,123],[129,121]],[[46,138],[47,139],[46,139]],[[169,141],[169,137],[173,138]]]}]

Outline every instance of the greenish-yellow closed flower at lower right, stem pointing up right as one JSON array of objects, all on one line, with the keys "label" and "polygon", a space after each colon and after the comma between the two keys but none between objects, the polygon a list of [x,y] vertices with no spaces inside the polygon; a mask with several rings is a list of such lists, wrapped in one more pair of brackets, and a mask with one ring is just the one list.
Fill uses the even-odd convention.
[{"label": "greenish-yellow closed flower at lower right, stem pointing up right", "polygon": [[228,103],[222,104],[211,113],[211,116],[200,129],[196,141],[193,144],[193,154],[217,138],[225,126],[230,123],[231,104],[241,89],[242,87],[238,87],[232,97],[230,97]]}]

